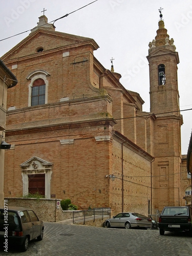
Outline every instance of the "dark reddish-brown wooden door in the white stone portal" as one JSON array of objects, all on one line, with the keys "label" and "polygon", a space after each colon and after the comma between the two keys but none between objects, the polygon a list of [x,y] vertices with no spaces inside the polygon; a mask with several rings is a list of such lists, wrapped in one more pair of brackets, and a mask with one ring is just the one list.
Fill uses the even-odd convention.
[{"label": "dark reddish-brown wooden door in the white stone portal", "polygon": [[39,193],[45,196],[45,174],[28,175],[29,179],[29,193]]}]

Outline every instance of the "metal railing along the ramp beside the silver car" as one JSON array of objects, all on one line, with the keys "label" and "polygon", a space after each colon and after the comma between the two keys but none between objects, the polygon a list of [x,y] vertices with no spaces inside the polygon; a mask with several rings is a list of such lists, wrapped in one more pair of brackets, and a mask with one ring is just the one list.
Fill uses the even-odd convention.
[{"label": "metal railing along the ramp beside the silver car", "polygon": [[90,210],[73,211],[73,224],[76,222],[83,222],[83,225],[88,220],[93,220],[101,218],[103,220],[104,216],[109,216],[111,218],[111,208],[93,208]]}]

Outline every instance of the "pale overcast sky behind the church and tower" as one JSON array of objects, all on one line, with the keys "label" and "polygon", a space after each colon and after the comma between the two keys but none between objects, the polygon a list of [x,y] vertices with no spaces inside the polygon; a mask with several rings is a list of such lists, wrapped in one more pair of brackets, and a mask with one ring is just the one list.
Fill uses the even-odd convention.
[{"label": "pale overcast sky behind the church and tower", "polygon": [[[48,22],[71,13],[94,0],[1,0],[0,40],[34,28],[42,10]],[[106,69],[115,72],[127,90],[140,94],[145,101],[143,111],[150,111],[149,72],[146,56],[148,43],[156,36],[162,14],[169,38],[174,38],[179,53],[178,85],[180,110],[192,108],[192,0],[97,0],[55,22],[56,31],[93,38],[99,45],[95,57]],[[28,36],[0,41],[0,56]],[[187,154],[192,128],[192,110],[182,111],[182,154]]]}]

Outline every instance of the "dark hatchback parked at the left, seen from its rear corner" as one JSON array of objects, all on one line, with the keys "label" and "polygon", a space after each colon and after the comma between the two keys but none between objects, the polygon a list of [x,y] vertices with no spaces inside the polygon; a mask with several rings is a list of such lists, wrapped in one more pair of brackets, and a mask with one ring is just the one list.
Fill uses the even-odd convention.
[{"label": "dark hatchback parked at the left, seen from its rear corner", "polygon": [[0,241],[5,250],[9,244],[16,244],[22,251],[26,251],[30,240],[37,238],[40,241],[43,236],[44,224],[33,210],[0,207]]}]

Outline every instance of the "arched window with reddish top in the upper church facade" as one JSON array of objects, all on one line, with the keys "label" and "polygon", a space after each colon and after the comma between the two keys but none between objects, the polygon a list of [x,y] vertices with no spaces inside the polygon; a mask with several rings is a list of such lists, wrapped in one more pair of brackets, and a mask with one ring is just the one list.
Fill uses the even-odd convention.
[{"label": "arched window with reddish top in the upper church facade", "polygon": [[33,82],[32,90],[31,90],[31,105],[40,105],[45,104],[45,96],[46,96],[46,83],[44,79],[37,78]]}]

